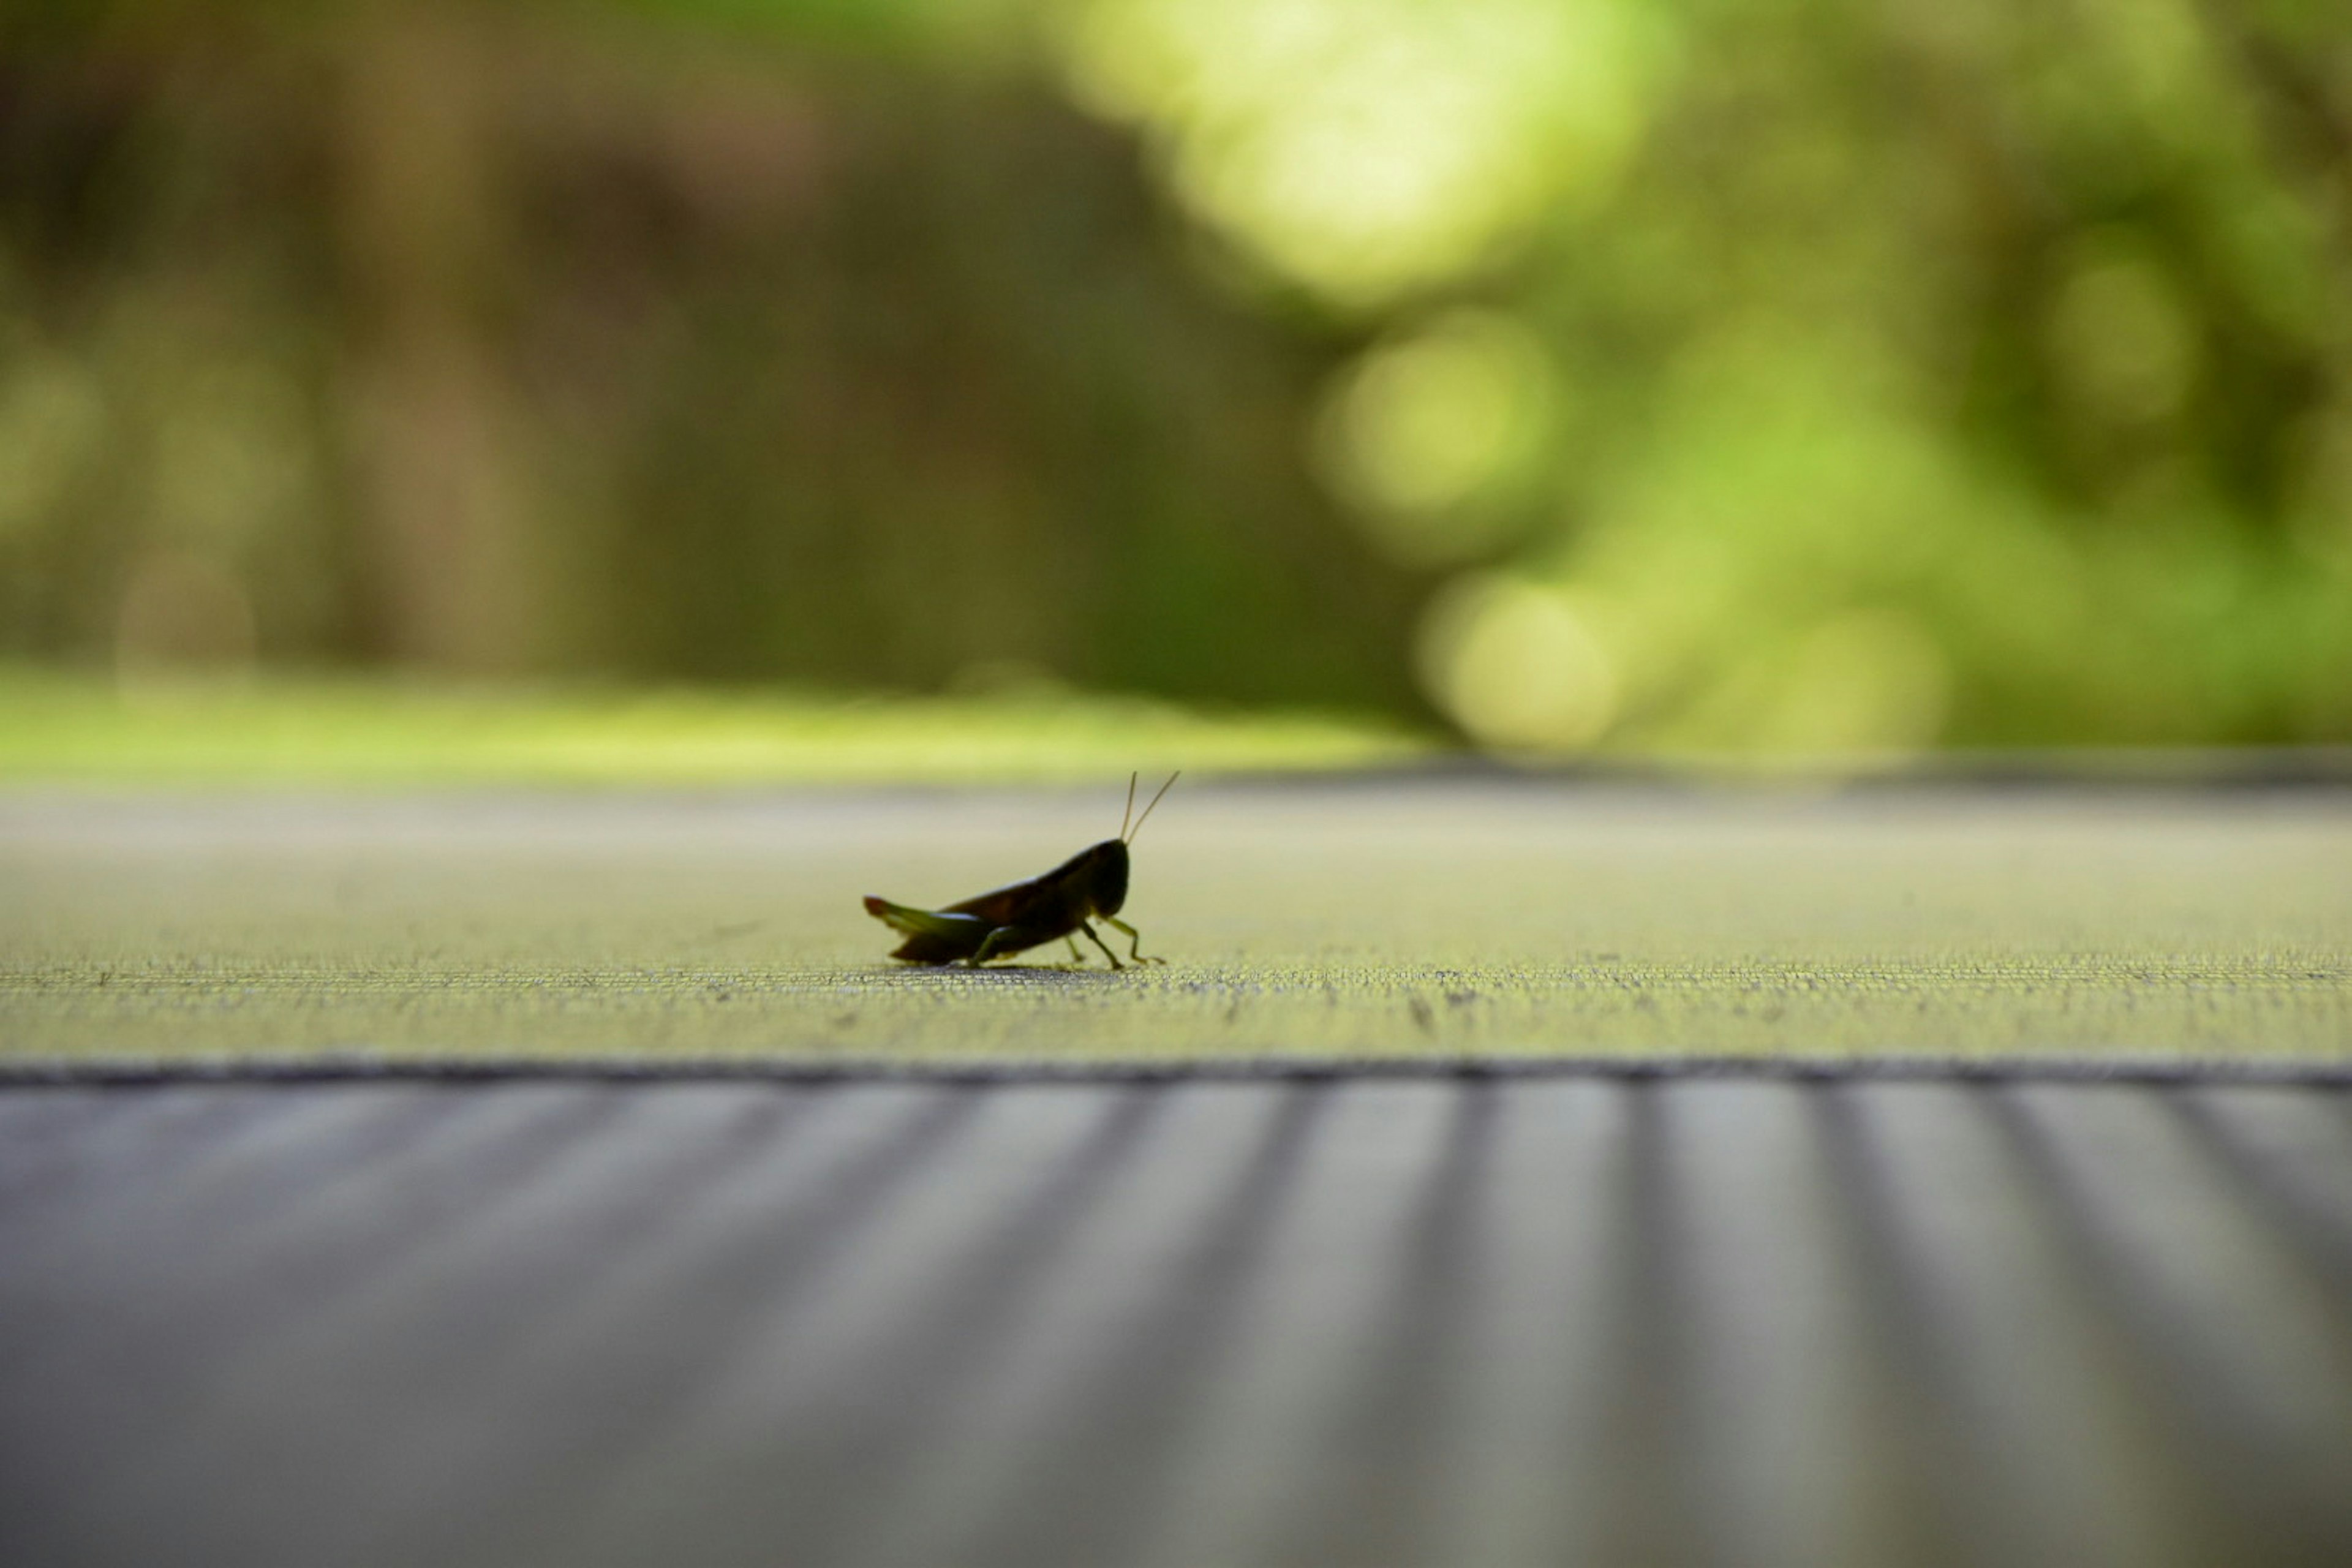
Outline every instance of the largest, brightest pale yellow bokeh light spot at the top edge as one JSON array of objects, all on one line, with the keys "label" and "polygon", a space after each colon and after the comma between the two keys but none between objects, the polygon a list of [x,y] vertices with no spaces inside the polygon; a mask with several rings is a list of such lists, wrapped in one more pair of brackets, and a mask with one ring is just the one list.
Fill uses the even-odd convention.
[{"label": "largest, brightest pale yellow bokeh light spot at the top edge", "polygon": [[1602,188],[1639,99],[1606,0],[1098,0],[1063,54],[1080,101],[1157,134],[1204,219],[1362,308]]}]

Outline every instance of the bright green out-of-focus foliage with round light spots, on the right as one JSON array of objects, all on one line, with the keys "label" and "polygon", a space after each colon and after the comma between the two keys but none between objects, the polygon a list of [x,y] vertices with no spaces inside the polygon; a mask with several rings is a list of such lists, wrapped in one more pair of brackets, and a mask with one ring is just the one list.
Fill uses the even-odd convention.
[{"label": "bright green out-of-focus foliage with round light spots, on the right", "polygon": [[1510,750],[2352,736],[2331,7],[1094,0]]}]

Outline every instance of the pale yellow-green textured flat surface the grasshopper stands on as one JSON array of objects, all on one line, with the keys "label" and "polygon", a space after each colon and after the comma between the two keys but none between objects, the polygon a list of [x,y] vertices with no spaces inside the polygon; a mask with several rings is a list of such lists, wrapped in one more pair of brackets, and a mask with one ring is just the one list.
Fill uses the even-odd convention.
[{"label": "pale yellow-green textured flat surface the grasshopper stands on", "polygon": [[16,792],[0,1041],[14,1063],[2352,1060],[2352,802],[2319,792],[1188,780],[1127,907],[1164,969],[884,961],[861,893],[946,903],[1117,813],[1110,780]]}]

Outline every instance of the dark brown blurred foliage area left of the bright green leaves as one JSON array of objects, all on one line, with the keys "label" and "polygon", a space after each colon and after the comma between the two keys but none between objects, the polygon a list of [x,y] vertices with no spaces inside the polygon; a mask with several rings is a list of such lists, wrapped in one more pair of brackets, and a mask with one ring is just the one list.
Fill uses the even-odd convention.
[{"label": "dark brown blurred foliage area left of the bright green leaves", "polygon": [[1411,708],[1341,346],[1009,16],[0,28],[0,649]]}]

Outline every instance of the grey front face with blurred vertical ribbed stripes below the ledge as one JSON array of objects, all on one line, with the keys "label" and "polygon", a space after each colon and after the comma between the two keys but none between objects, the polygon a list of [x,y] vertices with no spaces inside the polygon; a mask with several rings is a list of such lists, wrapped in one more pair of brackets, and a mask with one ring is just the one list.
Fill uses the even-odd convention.
[{"label": "grey front face with blurred vertical ribbed stripes below the ledge", "polygon": [[2352,1100],[0,1093],[0,1561],[2352,1561]]}]

